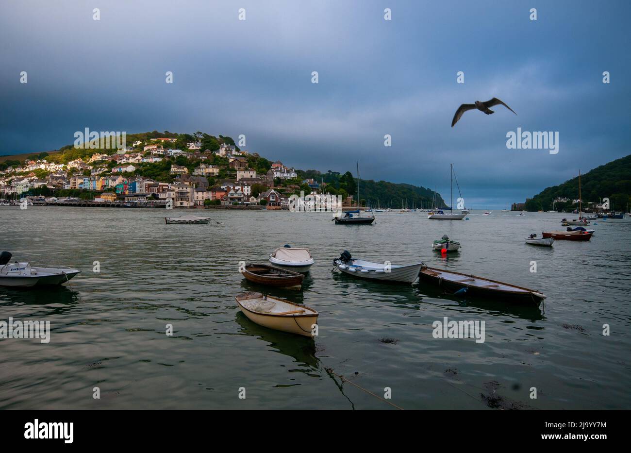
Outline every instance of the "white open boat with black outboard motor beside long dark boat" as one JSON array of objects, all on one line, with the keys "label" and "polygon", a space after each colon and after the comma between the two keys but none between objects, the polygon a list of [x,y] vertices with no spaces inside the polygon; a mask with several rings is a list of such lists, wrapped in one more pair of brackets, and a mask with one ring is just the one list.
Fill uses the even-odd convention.
[{"label": "white open boat with black outboard motor beside long dark boat", "polygon": [[387,261],[383,264],[380,262],[363,261],[362,259],[354,259],[346,250],[344,250],[338,259],[333,260],[333,266],[353,277],[379,281],[398,281],[403,283],[414,283],[422,264],[422,262],[418,262],[417,264],[400,266],[390,264]]}]

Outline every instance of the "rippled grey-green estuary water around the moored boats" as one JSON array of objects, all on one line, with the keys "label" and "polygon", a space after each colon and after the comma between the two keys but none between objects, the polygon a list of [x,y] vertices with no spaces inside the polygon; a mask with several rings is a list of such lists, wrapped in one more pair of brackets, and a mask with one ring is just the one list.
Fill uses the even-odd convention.
[{"label": "rippled grey-green estuary water around the moored boats", "polygon": [[[190,213],[0,206],[0,250],[81,270],[60,288],[0,287],[0,321],[51,327],[48,344],[0,339],[0,408],[393,409],[329,368],[379,396],[389,387],[387,401],[405,409],[631,408],[629,218],[597,220],[591,242],[550,249],[523,238],[563,229],[571,215],[472,211],[469,220],[437,221],[395,212],[345,226],[329,213],[198,210],[223,223],[165,225],[165,214]],[[463,245],[447,258],[430,247],[445,233]],[[242,278],[239,261],[267,262],[284,244],[309,247],[315,258],[302,291]],[[548,298],[538,309],[516,307],[418,281],[331,273],[343,250],[423,261]],[[319,336],[249,321],[234,296],[252,290],[318,310]],[[484,321],[484,343],[433,338],[432,323],[444,317]]]}]

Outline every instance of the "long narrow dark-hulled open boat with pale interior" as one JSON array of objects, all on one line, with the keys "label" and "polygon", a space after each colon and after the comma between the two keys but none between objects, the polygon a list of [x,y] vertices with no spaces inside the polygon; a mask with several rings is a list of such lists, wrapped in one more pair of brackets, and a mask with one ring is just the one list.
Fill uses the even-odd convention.
[{"label": "long narrow dark-hulled open boat with pale interior", "polygon": [[507,302],[528,303],[536,306],[539,306],[546,298],[540,291],[459,272],[428,268],[425,264],[421,267],[418,277],[420,281],[471,297],[499,298]]}]

